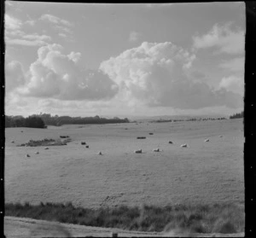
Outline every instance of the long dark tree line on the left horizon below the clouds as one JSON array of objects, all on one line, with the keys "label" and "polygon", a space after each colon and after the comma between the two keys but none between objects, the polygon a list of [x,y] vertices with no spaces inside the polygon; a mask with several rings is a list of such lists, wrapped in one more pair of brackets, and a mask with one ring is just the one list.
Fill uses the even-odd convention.
[{"label": "long dark tree line on the left horizon below the clouds", "polygon": [[5,127],[33,127],[45,128],[47,125],[67,125],[67,124],[113,124],[113,123],[128,123],[129,119],[113,119],[95,117],[69,117],[58,115],[52,116],[50,113],[33,114],[27,118],[22,116],[5,116]]}]

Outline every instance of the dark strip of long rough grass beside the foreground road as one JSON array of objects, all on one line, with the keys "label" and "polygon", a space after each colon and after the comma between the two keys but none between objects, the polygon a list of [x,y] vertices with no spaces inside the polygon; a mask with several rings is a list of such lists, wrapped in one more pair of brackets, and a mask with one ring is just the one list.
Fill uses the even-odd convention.
[{"label": "dark strip of long rough grass beside the foreground road", "polygon": [[72,203],[8,203],[5,215],[61,223],[119,228],[138,231],[171,231],[182,229],[195,233],[240,233],[245,228],[242,205],[201,206],[119,206],[88,209]]}]

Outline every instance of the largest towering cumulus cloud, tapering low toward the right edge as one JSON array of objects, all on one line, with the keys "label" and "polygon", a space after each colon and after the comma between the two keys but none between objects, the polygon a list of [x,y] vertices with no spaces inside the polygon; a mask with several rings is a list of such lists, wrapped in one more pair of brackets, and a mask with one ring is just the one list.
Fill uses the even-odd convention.
[{"label": "largest towering cumulus cloud, tapering low toward the right edge", "polygon": [[239,94],[190,80],[187,71],[194,60],[195,55],[170,42],[144,42],[103,61],[100,69],[119,85],[119,96],[131,105],[180,109],[241,107]]}]

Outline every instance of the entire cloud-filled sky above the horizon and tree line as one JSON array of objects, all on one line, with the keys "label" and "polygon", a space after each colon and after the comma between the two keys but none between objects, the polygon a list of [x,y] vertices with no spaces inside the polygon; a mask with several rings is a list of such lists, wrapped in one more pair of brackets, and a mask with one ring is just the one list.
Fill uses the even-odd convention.
[{"label": "entire cloud-filled sky above the horizon and tree line", "polygon": [[5,111],[240,112],[244,3],[6,2]]}]

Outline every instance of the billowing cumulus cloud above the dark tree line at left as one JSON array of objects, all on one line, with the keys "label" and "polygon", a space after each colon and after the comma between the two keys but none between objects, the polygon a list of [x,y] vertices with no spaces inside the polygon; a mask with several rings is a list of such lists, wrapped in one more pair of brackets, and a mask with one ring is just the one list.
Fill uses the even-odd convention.
[{"label": "billowing cumulus cloud above the dark tree line at left", "polygon": [[62,52],[60,44],[39,48],[38,60],[31,64],[20,94],[60,100],[102,100],[116,94],[118,86],[107,74],[78,66],[80,53]]}]

